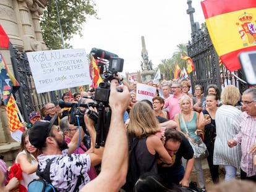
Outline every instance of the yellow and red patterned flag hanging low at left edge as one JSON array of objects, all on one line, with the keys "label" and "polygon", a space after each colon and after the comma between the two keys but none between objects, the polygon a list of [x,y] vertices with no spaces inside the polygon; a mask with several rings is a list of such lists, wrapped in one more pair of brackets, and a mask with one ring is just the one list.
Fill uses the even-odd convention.
[{"label": "yellow and red patterned flag hanging low at left edge", "polygon": [[7,102],[6,105],[6,112],[7,112],[7,117],[8,117],[8,122],[9,122],[9,130],[11,132],[14,132],[16,130],[22,130],[22,123],[20,123],[20,119],[18,116],[19,109],[17,109],[16,104],[15,104],[15,99],[14,96],[10,96],[9,101]]}]

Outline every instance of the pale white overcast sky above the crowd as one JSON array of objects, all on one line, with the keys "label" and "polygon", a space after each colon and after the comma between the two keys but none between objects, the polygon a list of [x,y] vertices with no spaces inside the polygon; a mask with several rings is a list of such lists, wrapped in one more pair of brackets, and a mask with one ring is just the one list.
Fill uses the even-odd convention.
[{"label": "pale white overcast sky above the crowd", "polygon": [[[191,27],[186,0],[94,0],[98,17],[89,17],[83,25],[83,36],[75,35],[70,44],[84,48],[104,49],[124,59],[126,72],[141,71],[144,36],[148,59],[153,69],[161,60],[170,59],[177,45],[190,40]],[[201,0],[193,0],[194,22],[205,22]]]}]

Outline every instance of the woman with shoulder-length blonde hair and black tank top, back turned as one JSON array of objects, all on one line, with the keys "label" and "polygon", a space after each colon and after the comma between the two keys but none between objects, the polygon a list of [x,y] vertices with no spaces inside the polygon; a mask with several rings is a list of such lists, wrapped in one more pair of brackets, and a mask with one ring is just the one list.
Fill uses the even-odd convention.
[{"label": "woman with shoulder-length blonde hair and black tank top, back turned", "polygon": [[[132,141],[137,140],[134,150],[140,175],[145,172],[157,173],[156,159],[158,156],[166,164],[171,164],[171,156],[164,148],[160,138],[155,135],[160,131],[160,127],[158,127],[158,120],[153,109],[147,102],[140,101],[134,104],[130,111],[130,122],[127,131]],[[130,142],[130,145],[132,145],[132,142]],[[138,178],[134,179],[132,185],[135,184]]]}]

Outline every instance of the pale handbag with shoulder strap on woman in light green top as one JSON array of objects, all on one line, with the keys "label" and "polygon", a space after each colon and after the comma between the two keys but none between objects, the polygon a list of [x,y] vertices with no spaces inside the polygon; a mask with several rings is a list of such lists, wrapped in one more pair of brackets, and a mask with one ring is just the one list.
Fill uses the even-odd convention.
[{"label": "pale handbag with shoulder strap on woman in light green top", "polygon": [[[187,135],[189,135],[189,130],[187,130],[187,124],[185,123],[184,117],[181,115],[182,123],[186,128]],[[202,138],[199,137],[197,142],[194,142],[192,138],[189,137],[189,144],[193,148],[195,158],[205,158],[209,156],[207,146],[203,143]]]}]

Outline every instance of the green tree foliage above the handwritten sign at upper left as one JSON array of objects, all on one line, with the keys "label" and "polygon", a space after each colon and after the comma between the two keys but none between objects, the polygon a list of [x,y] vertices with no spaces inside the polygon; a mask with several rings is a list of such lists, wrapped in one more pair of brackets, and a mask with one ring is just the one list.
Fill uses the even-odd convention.
[{"label": "green tree foliage above the handwritten sign at upper left", "polygon": [[[59,9],[59,18],[64,41],[72,39],[74,35],[82,36],[83,23],[87,16],[97,17],[95,2],[92,0],[50,0],[41,20],[43,40],[49,49],[62,49],[61,30],[56,3]],[[65,48],[70,48],[65,44]]]}]

